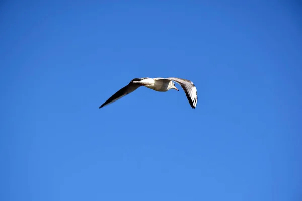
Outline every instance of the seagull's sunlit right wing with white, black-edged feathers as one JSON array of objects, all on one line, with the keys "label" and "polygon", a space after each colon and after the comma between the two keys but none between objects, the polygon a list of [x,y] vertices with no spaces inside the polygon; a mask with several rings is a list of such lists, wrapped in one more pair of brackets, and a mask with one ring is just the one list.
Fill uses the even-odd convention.
[{"label": "seagull's sunlit right wing with white, black-edged feathers", "polygon": [[169,77],[166,79],[177,82],[184,89],[191,107],[195,109],[197,105],[197,89],[194,83],[190,80],[176,77]]}]

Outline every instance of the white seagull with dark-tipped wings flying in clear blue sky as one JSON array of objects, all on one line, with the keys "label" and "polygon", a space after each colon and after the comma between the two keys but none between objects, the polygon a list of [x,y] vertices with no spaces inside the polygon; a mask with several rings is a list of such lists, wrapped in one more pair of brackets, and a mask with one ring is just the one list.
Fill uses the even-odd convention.
[{"label": "white seagull with dark-tipped wings flying in clear blue sky", "polygon": [[105,103],[103,103],[100,108],[103,108],[106,105],[109,105],[116,100],[124,97],[125,95],[132,93],[135,91],[137,88],[140,86],[145,86],[147,88],[153,89],[155,91],[159,92],[166,92],[170,89],[175,89],[179,91],[175,83],[175,81],[178,83],[183,90],[185,91],[185,94],[189,100],[189,103],[193,109],[196,108],[197,105],[197,89],[193,82],[187,79],[181,79],[181,78],[175,78],[175,77],[169,77],[169,78],[149,78],[149,77],[144,77],[144,78],[134,78],[132,79],[129,84],[123,88],[121,88],[119,91],[114,93],[108,100],[106,100]]}]

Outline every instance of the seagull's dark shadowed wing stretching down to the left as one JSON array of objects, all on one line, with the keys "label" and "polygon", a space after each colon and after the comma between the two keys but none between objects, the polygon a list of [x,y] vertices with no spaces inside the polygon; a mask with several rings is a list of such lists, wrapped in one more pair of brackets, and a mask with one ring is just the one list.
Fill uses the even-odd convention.
[{"label": "seagull's dark shadowed wing stretching down to the left", "polygon": [[135,91],[138,87],[140,87],[141,85],[140,84],[137,84],[137,83],[132,83],[132,81],[140,81],[142,80],[141,78],[135,78],[135,79],[132,79],[131,82],[121,88],[120,90],[118,90],[116,93],[114,93],[108,100],[106,100],[105,103],[103,103],[100,107],[100,108],[103,108],[104,106],[108,105],[108,104],[111,104],[113,102],[115,102],[116,100],[124,97],[125,95],[128,95],[129,93]]}]

